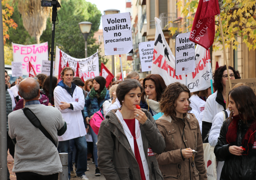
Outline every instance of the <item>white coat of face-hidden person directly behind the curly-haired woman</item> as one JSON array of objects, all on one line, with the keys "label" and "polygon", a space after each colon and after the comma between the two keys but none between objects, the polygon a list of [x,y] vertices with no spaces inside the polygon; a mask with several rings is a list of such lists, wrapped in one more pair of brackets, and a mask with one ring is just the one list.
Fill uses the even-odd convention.
[{"label": "white coat of face-hidden person directly behind the curly-haired woman", "polygon": [[198,95],[192,95],[190,97],[190,102],[191,102],[190,107],[192,108],[192,110],[197,111],[198,113],[198,118],[196,119],[199,122],[199,127],[202,134],[202,119],[204,115],[204,107],[206,102],[201,98],[199,98]]}]

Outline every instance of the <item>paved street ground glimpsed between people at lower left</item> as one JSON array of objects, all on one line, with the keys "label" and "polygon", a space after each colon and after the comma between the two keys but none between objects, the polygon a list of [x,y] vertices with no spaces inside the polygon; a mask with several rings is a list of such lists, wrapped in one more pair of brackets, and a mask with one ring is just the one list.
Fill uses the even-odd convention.
[{"label": "paved street ground glimpsed between people at lower left", "polygon": [[[10,179],[11,180],[17,180],[16,176],[15,176],[15,173],[12,172],[13,158],[10,155],[9,151],[8,151],[7,161],[8,161],[7,166],[8,166],[9,172],[10,172]],[[86,176],[89,180],[92,180],[92,179],[93,180],[105,180],[103,175],[94,176],[94,174],[95,174],[95,164],[92,164],[92,159],[91,159],[91,161],[88,161],[87,164],[89,164],[88,165],[89,171],[86,171]],[[71,180],[79,180],[79,179],[78,178],[71,178]]]}]

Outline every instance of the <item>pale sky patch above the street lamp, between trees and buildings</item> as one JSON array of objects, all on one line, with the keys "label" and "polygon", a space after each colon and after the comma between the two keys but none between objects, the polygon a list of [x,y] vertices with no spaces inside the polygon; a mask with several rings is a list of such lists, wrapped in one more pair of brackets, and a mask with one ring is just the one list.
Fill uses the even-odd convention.
[{"label": "pale sky patch above the street lamp, between trees and buildings", "polygon": [[[118,9],[120,13],[125,13],[125,0],[86,0],[95,4],[97,8],[101,11],[101,14],[104,14],[104,10],[107,9]],[[102,29],[102,23],[100,24],[99,29]]]}]

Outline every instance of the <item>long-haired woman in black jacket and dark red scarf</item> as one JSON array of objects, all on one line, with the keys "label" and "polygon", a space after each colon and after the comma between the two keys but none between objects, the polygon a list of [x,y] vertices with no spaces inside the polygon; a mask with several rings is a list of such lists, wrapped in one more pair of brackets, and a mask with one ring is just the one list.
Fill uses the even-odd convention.
[{"label": "long-haired woman in black jacket and dark red scarf", "polygon": [[220,180],[256,179],[256,95],[249,86],[229,92],[230,116],[220,129],[214,148],[219,161],[225,161]]}]

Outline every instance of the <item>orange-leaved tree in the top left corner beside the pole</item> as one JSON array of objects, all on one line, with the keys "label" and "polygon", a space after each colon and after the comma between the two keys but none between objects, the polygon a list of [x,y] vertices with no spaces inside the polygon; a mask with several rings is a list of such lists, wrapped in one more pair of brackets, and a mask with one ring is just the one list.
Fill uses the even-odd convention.
[{"label": "orange-leaved tree in the top left corner beside the pole", "polygon": [[10,6],[10,3],[8,0],[2,0],[2,18],[3,18],[3,33],[4,33],[4,44],[6,42],[6,39],[9,39],[8,31],[9,27],[16,29],[17,24],[14,22],[13,19],[11,19],[11,15],[13,14],[13,7]]}]

